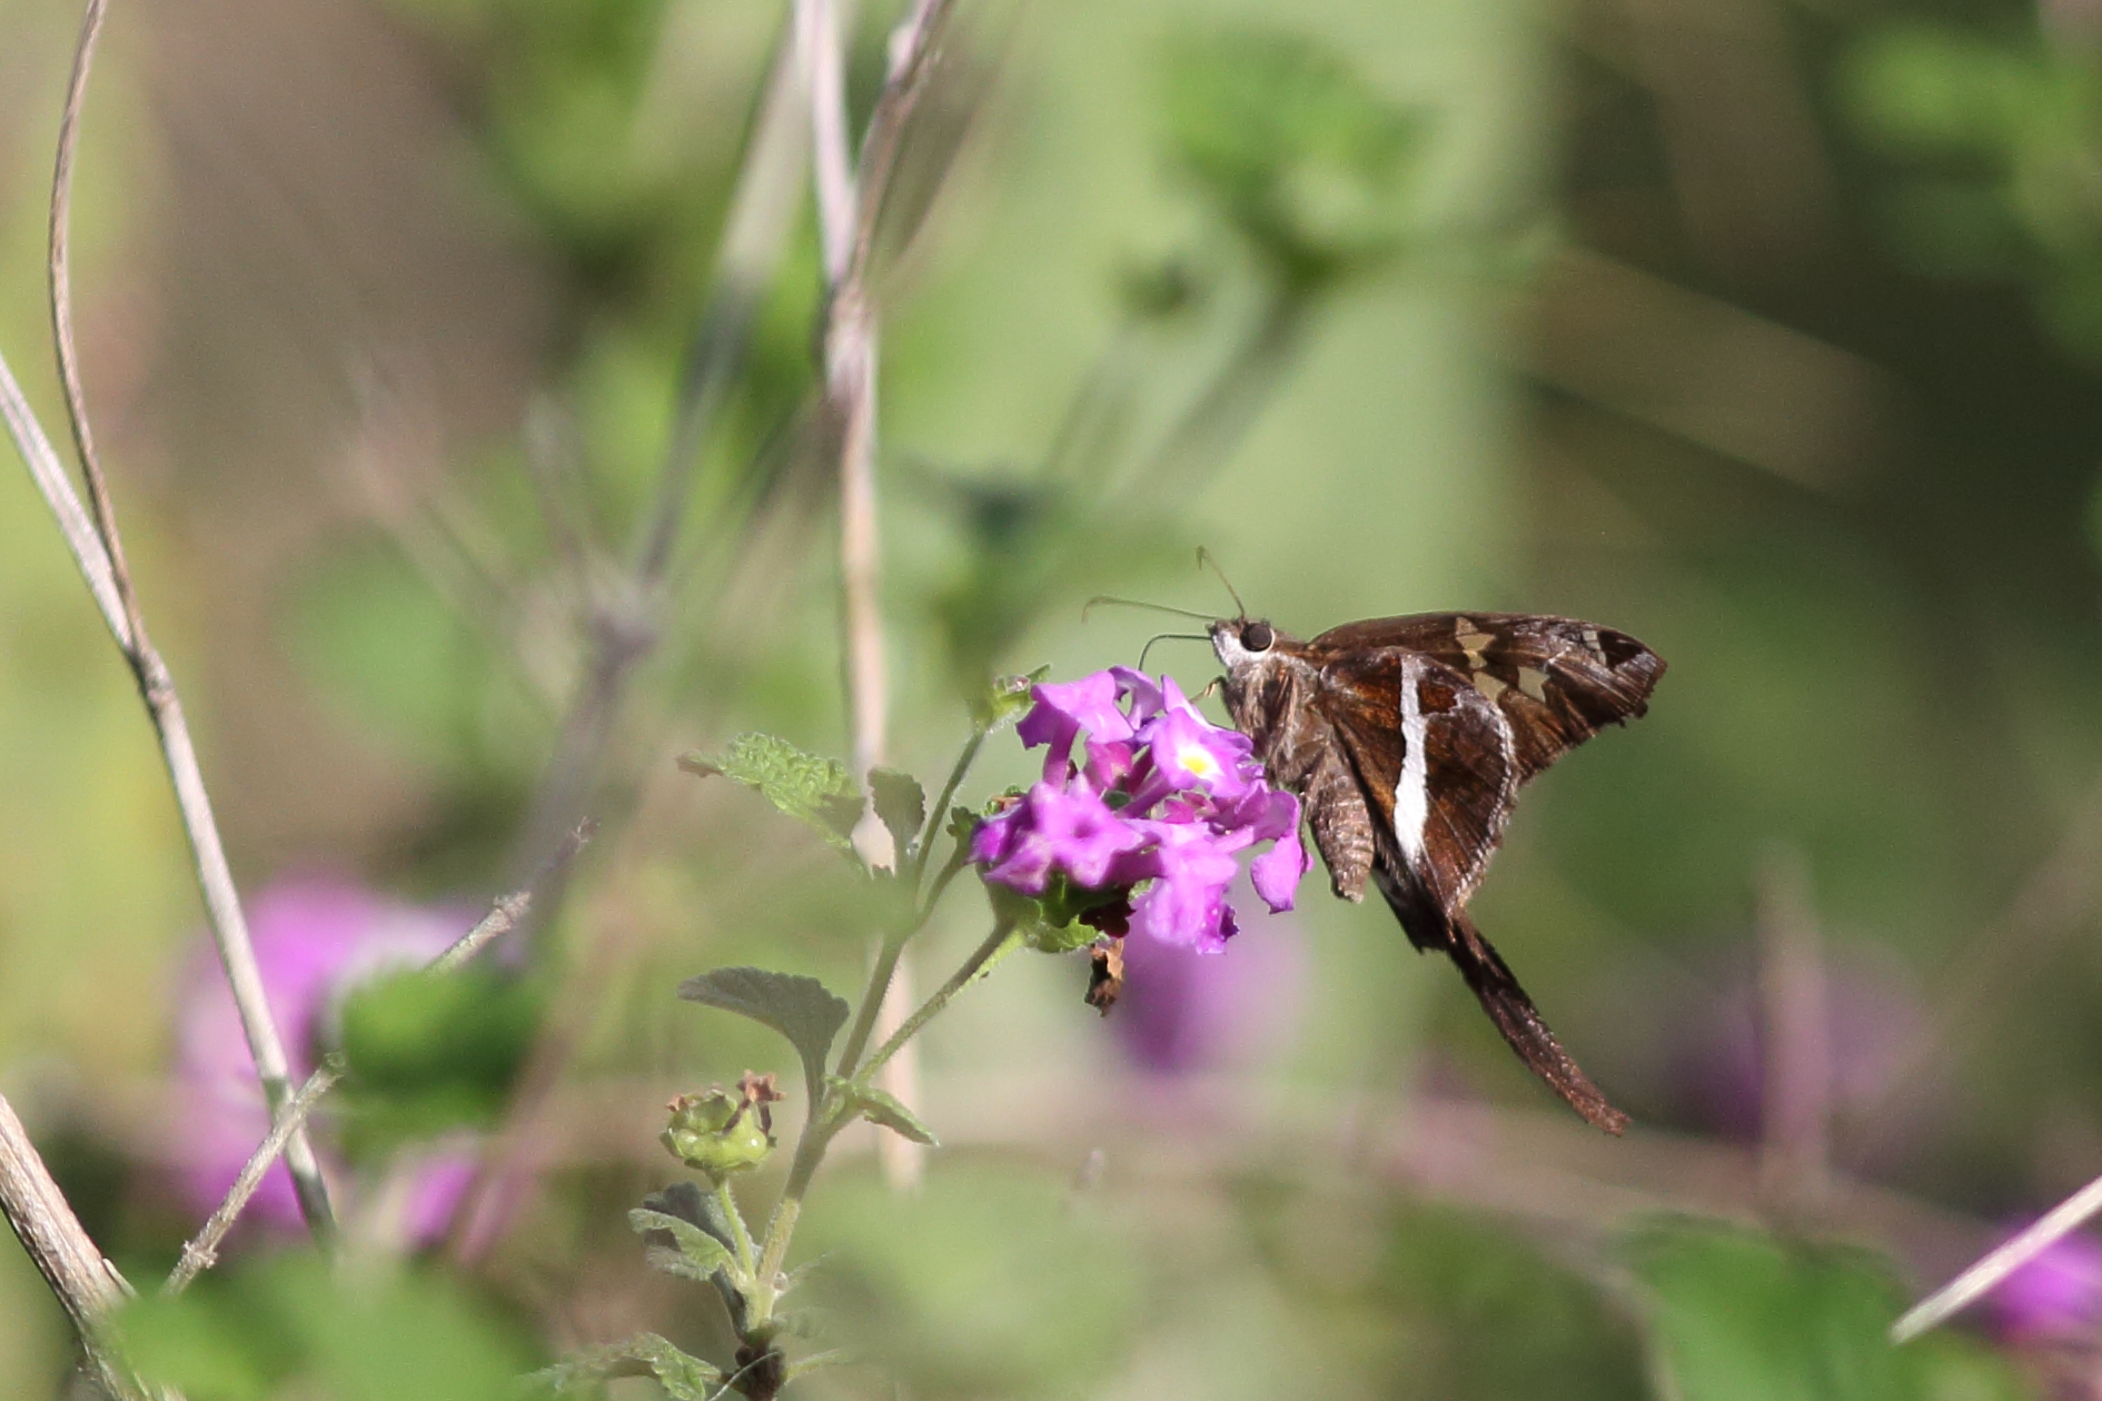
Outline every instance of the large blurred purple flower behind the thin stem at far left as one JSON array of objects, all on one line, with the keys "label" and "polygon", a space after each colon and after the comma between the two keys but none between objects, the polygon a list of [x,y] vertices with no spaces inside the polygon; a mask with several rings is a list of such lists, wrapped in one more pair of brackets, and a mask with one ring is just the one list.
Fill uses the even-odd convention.
[{"label": "large blurred purple flower behind the thin stem at far left", "polygon": [[[248,903],[248,922],[294,1084],[334,1042],[334,1021],[351,989],[376,975],[429,962],[467,930],[467,920],[454,914],[387,901],[328,878],[282,880],[265,888]],[[177,1180],[183,1199],[206,1216],[263,1143],[269,1113],[233,996],[208,943],[189,960],[179,998]],[[423,1243],[444,1231],[469,1174],[471,1159],[460,1153],[431,1155],[420,1164],[404,1210],[410,1241]],[[246,1218],[298,1229],[298,1201],[282,1162],[263,1178]]]}]

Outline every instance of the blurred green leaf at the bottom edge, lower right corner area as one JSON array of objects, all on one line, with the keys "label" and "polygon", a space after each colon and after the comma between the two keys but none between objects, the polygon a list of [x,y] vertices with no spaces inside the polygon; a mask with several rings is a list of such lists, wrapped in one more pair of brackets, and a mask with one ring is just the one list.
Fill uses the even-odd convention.
[{"label": "blurred green leaf at the bottom edge, lower right corner area", "polygon": [[1856,1250],[1671,1220],[1629,1243],[1650,1351],[1684,1401],[1923,1401],[1919,1355],[1890,1342],[1898,1292]]}]

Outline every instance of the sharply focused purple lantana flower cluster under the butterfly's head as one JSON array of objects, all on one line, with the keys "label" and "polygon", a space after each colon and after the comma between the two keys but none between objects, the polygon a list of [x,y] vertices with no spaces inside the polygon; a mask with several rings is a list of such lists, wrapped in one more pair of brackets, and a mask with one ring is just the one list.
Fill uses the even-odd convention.
[{"label": "sharply focused purple lantana flower cluster under the butterfly's head", "polygon": [[1045,775],[980,823],[984,878],[1078,909],[1106,935],[1139,930],[1217,954],[1234,937],[1238,855],[1272,912],[1307,872],[1299,798],[1272,788],[1249,737],[1207,720],[1171,676],[1114,666],[1038,685],[1017,725]]}]

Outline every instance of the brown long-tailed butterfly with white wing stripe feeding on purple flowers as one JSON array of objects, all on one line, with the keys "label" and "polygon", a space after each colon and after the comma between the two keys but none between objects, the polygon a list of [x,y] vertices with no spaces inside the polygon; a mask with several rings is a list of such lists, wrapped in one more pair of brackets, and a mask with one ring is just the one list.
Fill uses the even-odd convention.
[{"label": "brown long-tailed butterfly with white wing stripe feeding on purple flowers", "polygon": [[1301,796],[1335,893],[1371,876],[1419,949],[1444,949],[1503,1040],[1610,1134],[1627,1115],[1562,1050],[1467,899],[1520,786],[1648,708],[1665,662],[1625,632],[1532,613],[1415,613],[1301,643],[1255,618],[1211,624],[1225,708]]}]

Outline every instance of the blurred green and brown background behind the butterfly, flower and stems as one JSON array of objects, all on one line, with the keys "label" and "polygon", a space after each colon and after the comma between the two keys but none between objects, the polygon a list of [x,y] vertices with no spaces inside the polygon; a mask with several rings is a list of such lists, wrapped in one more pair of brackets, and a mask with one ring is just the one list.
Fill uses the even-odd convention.
[{"label": "blurred green and brown background behind the butterfly, flower and stems", "polygon": [[[856,124],[895,19],[853,17]],[[622,1214],[681,1174],[671,1094],[788,1065],[677,981],[845,994],[870,956],[830,851],[673,765],[847,752],[784,23],[114,13],[86,386],[298,1059],[601,819],[448,1054],[328,1115],[351,1233],[414,1269],[309,1317],[265,1195],[153,1315],[191,1397],[486,1395],[639,1327],[723,1359]],[[0,349],[53,433],[76,27],[0,0]],[[1625,1141],[1322,876],[1223,958],[1135,952],[1108,1019],[1085,960],[1017,958],[925,1040],[925,1180],[849,1136],[818,1183],[795,1256],[870,1365],[807,1395],[2102,1395],[2083,1239],[1879,1340],[2102,1172],[2102,8],[965,0],[877,288],[891,752],[929,790],[988,676],[1173,626],[1089,594],[1232,613],[1198,544],[1301,636],[1570,613],[1671,670],[1474,905]],[[1030,767],[1001,735],[963,800]],[[984,924],[959,886],[921,985]],[[0,471],[0,1092],[141,1283],[261,1132],[200,930],[130,676]],[[385,1384],[341,1361],[380,1338]],[[0,1248],[4,1388],[67,1367]]]}]

